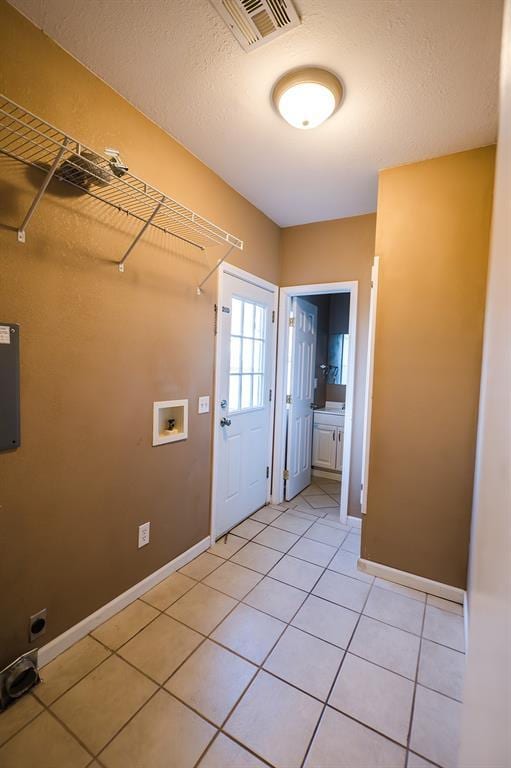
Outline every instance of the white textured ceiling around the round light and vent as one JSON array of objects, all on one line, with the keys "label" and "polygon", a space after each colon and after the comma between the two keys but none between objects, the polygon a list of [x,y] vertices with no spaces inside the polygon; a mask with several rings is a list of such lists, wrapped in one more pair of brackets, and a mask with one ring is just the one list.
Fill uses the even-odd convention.
[{"label": "white textured ceiling around the round light and vent", "polygon": [[[373,211],[378,169],[495,141],[500,0],[296,0],[302,25],[250,54],[208,0],[11,2],[281,226]],[[270,103],[304,64],[346,88],[312,131]]]}]

